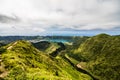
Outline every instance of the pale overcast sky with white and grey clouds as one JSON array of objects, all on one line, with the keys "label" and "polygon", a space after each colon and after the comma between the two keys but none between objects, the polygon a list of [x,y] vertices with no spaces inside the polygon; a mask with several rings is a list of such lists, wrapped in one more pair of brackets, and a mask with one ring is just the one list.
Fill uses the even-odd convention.
[{"label": "pale overcast sky with white and grey clouds", "polygon": [[120,30],[120,0],[0,0],[0,35],[83,30]]}]

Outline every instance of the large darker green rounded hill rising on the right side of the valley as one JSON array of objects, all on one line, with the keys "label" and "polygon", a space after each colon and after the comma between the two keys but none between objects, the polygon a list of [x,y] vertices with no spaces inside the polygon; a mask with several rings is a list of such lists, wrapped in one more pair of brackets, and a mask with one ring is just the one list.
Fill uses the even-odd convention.
[{"label": "large darker green rounded hill rising on the right side of the valley", "polygon": [[74,53],[79,64],[100,80],[120,79],[120,37],[100,34],[87,39]]}]

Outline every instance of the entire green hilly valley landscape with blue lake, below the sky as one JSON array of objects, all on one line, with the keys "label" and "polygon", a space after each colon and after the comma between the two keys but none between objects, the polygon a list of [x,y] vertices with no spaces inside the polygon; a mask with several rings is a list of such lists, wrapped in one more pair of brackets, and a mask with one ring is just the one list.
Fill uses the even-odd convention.
[{"label": "entire green hilly valley landscape with blue lake, below the sky", "polygon": [[9,38],[0,38],[2,80],[120,79],[120,36]]}]

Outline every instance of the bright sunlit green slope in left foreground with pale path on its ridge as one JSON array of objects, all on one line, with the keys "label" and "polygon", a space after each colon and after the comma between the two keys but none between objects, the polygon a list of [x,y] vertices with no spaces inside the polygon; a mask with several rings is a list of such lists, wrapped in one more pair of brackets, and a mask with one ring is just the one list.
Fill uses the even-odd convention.
[{"label": "bright sunlit green slope in left foreground with pale path on its ridge", "polygon": [[64,58],[52,58],[27,41],[16,41],[2,49],[1,79],[92,80],[90,76],[77,71]]}]

